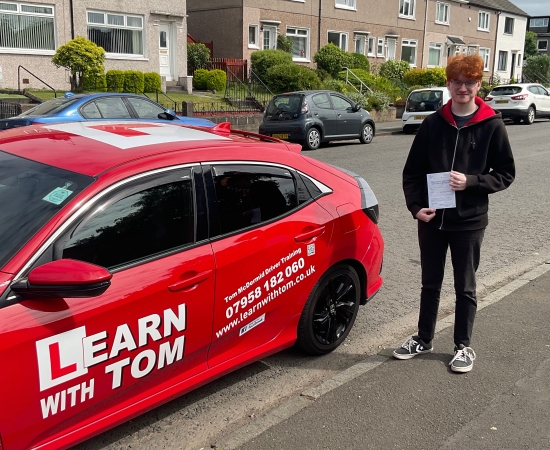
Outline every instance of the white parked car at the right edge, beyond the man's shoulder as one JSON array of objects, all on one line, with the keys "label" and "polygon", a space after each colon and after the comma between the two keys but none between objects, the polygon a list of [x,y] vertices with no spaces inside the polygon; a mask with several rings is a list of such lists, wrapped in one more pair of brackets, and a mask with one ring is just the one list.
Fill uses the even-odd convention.
[{"label": "white parked car at the right edge, beyond the man's shoulder", "polygon": [[536,83],[516,83],[495,87],[485,102],[495,111],[502,113],[503,119],[514,123],[531,125],[535,118],[550,118],[550,94]]}]

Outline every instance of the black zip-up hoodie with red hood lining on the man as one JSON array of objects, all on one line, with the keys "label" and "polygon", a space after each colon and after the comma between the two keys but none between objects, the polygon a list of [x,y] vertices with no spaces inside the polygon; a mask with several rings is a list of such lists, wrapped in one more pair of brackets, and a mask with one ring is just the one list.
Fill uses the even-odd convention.
[{"label": "black zip-up hoodie with red hood lining on the man", "polygon": [[442,230],[478,230],[488,223],[489,194],[514,181],[514,157],[499,112],[476,97],[479,109],[459,130],[451,102],[420,126],[403,169],[403,191],[407,208],[416,217],[428,207],[426,174],[450,170],[465,174],[466,189],[455,192],[456,208],[438,209],[429,224]]}]

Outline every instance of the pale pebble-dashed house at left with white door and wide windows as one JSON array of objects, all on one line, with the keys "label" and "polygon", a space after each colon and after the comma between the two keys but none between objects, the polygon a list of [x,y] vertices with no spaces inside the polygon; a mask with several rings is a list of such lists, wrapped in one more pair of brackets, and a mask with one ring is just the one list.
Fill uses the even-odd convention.
[{"label": "pale pebble-dashed house at left with white door and wide windows", "polygon": [[[51,62],[56,49],[85,36],[105,49],[105,69],[158,72],[191,90],[186,2],[39,0],[0,3],[0,89],[70,89]],[[43,82],[38,80],[41,79]]]}]

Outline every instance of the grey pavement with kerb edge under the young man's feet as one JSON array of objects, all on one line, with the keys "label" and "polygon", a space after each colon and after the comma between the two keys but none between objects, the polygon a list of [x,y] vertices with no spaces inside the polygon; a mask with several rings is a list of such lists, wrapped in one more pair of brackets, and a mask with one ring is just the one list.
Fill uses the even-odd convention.
[{"label": "grey pavement with kerb edge under the young man's feet", "polygon": [[549,322],[547,261],[478,299],[471,372],[449,369],[451,315],[438,321],[433,353],[396,360],[397,342],[284,400],[213,448],[550,449]]}]

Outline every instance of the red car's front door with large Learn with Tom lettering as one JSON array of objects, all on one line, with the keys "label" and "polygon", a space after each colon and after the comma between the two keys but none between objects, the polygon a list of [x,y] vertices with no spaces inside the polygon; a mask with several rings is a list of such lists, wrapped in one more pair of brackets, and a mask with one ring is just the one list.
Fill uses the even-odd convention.
[{"label": "red car's front door with large Learn with Tom lettering", "polygon": [[108,268],[111,285],[93,298],[0,309],[0,383],[12,387],[0,399],[4,448],[100,430],[206,370],[215,276],[199,175],[134,177],[54,231],[34,266],[85,261]]}]

